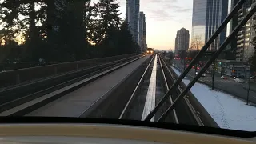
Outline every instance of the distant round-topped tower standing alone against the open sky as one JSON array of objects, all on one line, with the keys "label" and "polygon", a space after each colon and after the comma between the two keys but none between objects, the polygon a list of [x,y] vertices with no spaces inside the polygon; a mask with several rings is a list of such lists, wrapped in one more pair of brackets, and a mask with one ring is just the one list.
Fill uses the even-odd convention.
[{"label": "distant round-topped tower standing alone against the open sky", "polygon": [[188,50],[190,45],[190,32],[185,28],[177,31],[175,39],[175,54],[181,50]]}]

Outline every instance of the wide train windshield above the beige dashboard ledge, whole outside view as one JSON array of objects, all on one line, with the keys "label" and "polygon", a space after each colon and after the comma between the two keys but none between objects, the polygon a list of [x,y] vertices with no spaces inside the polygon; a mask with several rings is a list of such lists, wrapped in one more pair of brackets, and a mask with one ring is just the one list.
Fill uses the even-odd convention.
[{"label": "wide train windshield above the beige dashboard ledge, whole outside view", "polygon": [[0,116],[256,130],[255,0],[0,0]]}]

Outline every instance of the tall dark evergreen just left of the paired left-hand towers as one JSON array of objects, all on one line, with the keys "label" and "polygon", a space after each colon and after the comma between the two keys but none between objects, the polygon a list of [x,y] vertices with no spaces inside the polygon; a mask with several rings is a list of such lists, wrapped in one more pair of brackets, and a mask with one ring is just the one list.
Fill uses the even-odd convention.
[{"label": "tall dark evergreen just left of the paired left-hand towers", "polygon": [[116,0],[100,0],[91,10],[90,23],[87,29],[90,42],[101,47],[105,56],[115,55],[117,36],[121,23],[119,4]]}]

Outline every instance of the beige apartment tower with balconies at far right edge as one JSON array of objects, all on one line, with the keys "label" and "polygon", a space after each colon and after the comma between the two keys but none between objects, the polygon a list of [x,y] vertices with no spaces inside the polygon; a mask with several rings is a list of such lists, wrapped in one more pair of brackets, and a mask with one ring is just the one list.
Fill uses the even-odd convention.
[{"label": "beige apartment tower with balconies at far right edge", "polygon": [[[251,9],[251,6],[255,5],[255,0],[248,0],[244,3],[241,9],[238,10],[238,22],[242,21],[242,18]],[[254,54],[254,46],[252,45],[252,40],[254,38],[254,20],[250,18],[246,22],[246,25],[238,31],[237,35],[237,49],[236,49],[236,60],[237,61],[248,61],[249,58]]]}]

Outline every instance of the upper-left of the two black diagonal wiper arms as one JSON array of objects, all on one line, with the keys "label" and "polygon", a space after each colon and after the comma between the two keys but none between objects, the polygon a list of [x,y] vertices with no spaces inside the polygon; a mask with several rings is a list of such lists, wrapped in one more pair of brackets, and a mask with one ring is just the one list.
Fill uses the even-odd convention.
[{"label": "upper-left of the two black diagonal wiper arms", "polygon": [[[157,110],[160,108],[160,106],[162,106],[162,104],[165,102],[165,99],[166,98],[169,98],[169,95],[170,93],[178,86],[179,82],[182,81],[182,79],[186,76],[186,74],[191,70],[192,66],[194,66],[195,62],[198,61],[198,58],[202,57],[202,54],[208,49],[208,47],[211,45],[212,42],[214,42],[215,38],[218,37],[218,34],[220,34],[222,32],[222,30],[226,27],[227,23],[230,22],[230,20],[233,18],[234,14],[237,13],[238,9],[240,7],[242,7],[242,4],[246,2],[246,0],[240,0],[236,6],[234,6],[234,9],[231,10],[230,14],[226,17],[226,19],[222,22],[222,24],[218,27],[218,29],[214,32],[214,34],[209,38],[209,40],[206,42],[206,44],[204,46],[202,46],[202,49],[199,51],[199,53],[196,55],[195,58],[193,58],[192,62],[190,62],[190,65],[186,68],[186,70],[184,71],[184,73],[182,73],[178,79],[176,80],[176,82],[174,82],[174,84],[172,86],[170,86],[170,89],[166,92],[166,94],[163,96],[163,98],[160,100],[160,102],[158,102],[158,104],[154,107],[154,110],[152,110],[150,112],[150,114],[145,118],[145,121],[150,121],[150,119],[154,116],[154,114],[157,112]],[[254,9],[252,9],[254,10]],[[252,11],[251,10],[251,11]],[[250,12],[248,13],[250,14]],[[251,14],[252,15],[252,14]],[[250,16],[251,16],[250,15]],[[240,22],[240,25],[244,25],[246,23],[246,21],[248,20],[249,18],[247,19],[243,19],[245,20],[245,22]],[[237,26],[236,28],[239,30],[242,28],[242,26]],[[235,29],[236,30],[236,29]],[[230,37],[233,38],[235,36],[235,34],[238,33],[238,30],[236,31],[233,31],[231,34],[230,34]],[[230,38],[229,37],[229,38]],[[230,42],[231,38],[226,38],[226,41],[227,42]],[[222,44],[223,45],[223,44]],[[227,45],[227,44],[225,44]],[[224,46],[225,46],[224,45]],[[225,47],[224,47],[225,48]],[[222,48],[222,49],[224,49]],[[219,48],[218,50],[220,50],[221,48]],[[221,52],[221,51],[220,51]],[[215,53],[215,54],[218,54],[218,53]],[[218,57],[218,55],[216,56]],[[214,59],[214,57],[213,57]],[[204,66],[205,67],[205,66]],[[208,66],[207,66],[208,67]],[[197,78],[197,76],[195,77]],[[198,79],[194,79],[195,81],[197,81]]]}]

